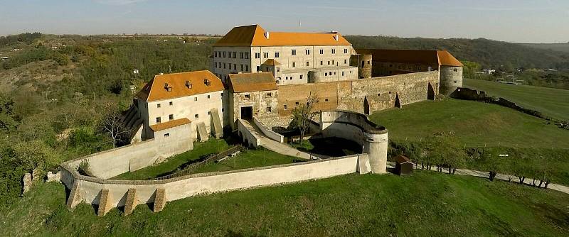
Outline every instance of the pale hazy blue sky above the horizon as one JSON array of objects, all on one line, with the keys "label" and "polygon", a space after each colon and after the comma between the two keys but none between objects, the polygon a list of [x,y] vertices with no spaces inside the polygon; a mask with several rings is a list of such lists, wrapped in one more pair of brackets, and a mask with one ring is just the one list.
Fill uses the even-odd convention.
[{"label": "pale hazy blue sky above the horizon", "polygon": [[569,42],[569,0],[0,0],[0,35],[267,31]]}]

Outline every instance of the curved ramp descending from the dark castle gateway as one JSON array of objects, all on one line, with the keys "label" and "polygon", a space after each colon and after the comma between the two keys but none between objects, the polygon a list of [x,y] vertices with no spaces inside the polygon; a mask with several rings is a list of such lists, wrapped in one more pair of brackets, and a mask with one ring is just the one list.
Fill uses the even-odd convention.
[{"label": "curved ramp descending from the dark castle gateway", "polygon": [[[250,121],[240,119],[240,122],[243,123],[243,127],[246,128],[249,133],[255,136],[255,138],[259,139],[260,145],[264,146],[269,150],[274,151],[275,153],[290,155],[305,160],[312,160],[312,158],[314,158],[314,155],[310,155],[309,153],[304,153],[300,150],[292,148],[291,146],[285,143],[279,143],[276,140],[268,138],[267,136],[265,136],[265,134],[262,133],[262,131],[260,131],[260,128],[257,128],[257,126],[255,126],[255,124],[251,123]],[[241,132],[243,133],[244,131]]]}]

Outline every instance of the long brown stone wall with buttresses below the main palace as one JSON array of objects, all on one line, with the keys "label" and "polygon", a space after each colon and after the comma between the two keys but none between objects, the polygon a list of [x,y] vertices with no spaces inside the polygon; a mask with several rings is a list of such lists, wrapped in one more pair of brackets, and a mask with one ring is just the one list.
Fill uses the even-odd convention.
[{"label": "long brown stone wall with buttresses below the main palace", "polygon": [[324,111],[344,109],[366,113],[393,108],[397,104],[413,104],[434,99],[439,94],[439,77],[439,71],[432,71],[339,82],[282,85],[278,87],[278,112],[280,116],[289,115],[294,106],[306,102],[310,92],[316,93],[318,97],[314,109]]}]

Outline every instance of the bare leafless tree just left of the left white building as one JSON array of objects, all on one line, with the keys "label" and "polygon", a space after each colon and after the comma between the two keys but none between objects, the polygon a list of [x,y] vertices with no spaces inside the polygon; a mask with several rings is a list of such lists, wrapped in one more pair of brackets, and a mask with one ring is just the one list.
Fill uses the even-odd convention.
[{"label": "bare leafless tree just left of the left white building", "polygon": [[131,129],[124,125],[124,115],[121,114],[114,104],[106,104],[100,128],[107,133],[112,139],[112,148],[116,148],[117,144],[122,140],[122,136],[131,132]]}]

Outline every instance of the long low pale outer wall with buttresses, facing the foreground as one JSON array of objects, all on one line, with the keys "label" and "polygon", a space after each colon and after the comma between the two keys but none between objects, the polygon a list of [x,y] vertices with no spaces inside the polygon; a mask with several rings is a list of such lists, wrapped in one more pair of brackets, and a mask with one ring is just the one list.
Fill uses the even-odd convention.
[{"label": "long low pale outer wall with buttresses, facing the foreground", "polygon": [[136,197],[131,197],[136,204],[155,202],[158,189],[164,189],[161,199],[169,202],[197,194],[314,180],[353,172],[364,174],[370,172],[370,165],[368,155],[360,154],[287,165],[186,175],[168,180],[104,180],[80,175],[65,163],[61,165],[60,170],[62,182],[72,189],[73,195],[68,199],[68,207],[73,209],[80,202],[100,204],[103,189],[108,190],[105,204],[110,206],[124,206],[129,189],[136,189]]}]

